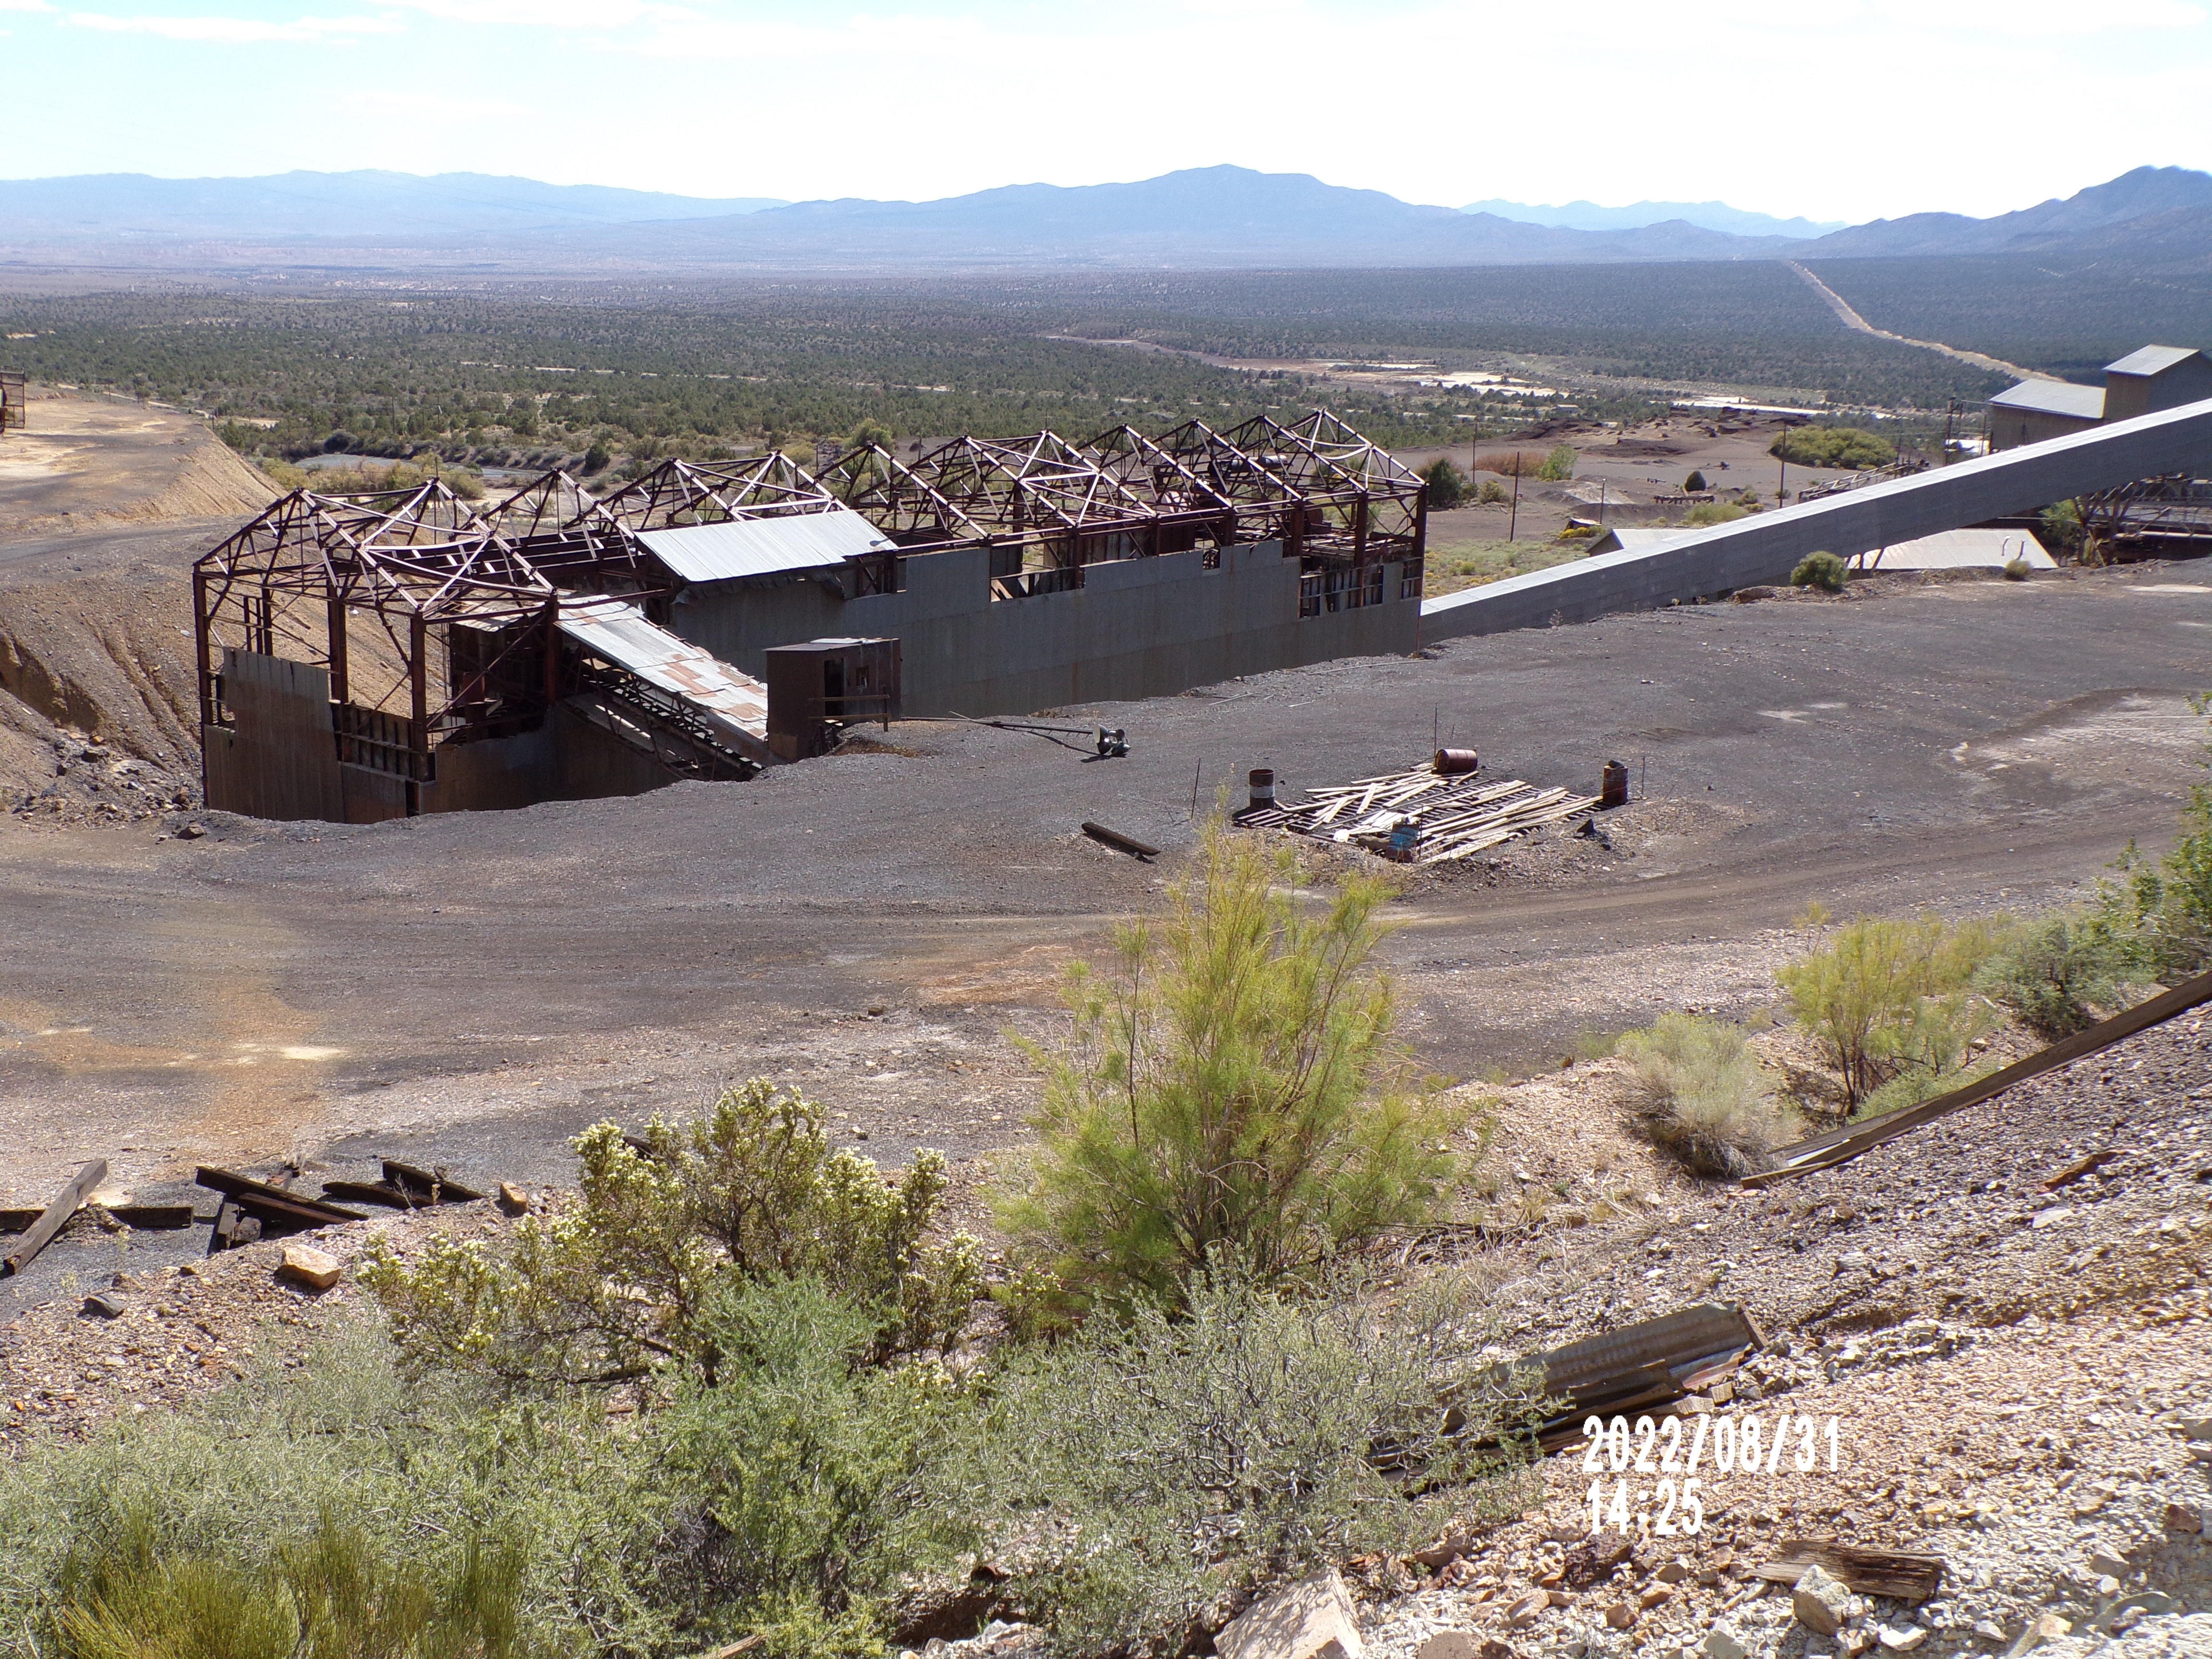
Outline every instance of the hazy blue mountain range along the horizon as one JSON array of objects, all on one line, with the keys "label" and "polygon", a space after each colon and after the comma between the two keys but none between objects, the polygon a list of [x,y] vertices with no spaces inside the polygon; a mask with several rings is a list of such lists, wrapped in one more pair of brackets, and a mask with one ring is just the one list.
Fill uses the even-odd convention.
[{"label": "hazy blue mountain range along the horizon", "polygon": [[[18,265],[613,270],[1223,270],[1553,265],[1683,259],[1871,259],[2033,252],[2197,268],[2212,175],[2137,168],[1993,219],[1924,212],[1823,230],[1725,204],[1520,208],[1674,212],[1551,226],[1352,190],[1303,173],[1214,166],[1137,184],[1015,184],[942,201],[701,199],[442,173],[265,179],[91,175],[0,181],[0,261]],[[1734,215],[1739,228],[1699,223]],[[1745,228],[1756,230],[1750,234]]]}]

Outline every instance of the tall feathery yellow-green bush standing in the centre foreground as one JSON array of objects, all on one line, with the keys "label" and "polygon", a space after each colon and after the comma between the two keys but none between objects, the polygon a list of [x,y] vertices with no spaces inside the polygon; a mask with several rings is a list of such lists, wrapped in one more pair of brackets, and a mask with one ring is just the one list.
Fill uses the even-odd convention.
[{"label": "tall feathery yellow-green bush standing in the centre foreground", "polygon": [[1040,1146],[1002,1190],[1024,1254],[1075,1301],[1172,1301],[1219,1250],[1263,1281],[1431,1217],[1464,1115],[1413,1082],[1374,962],[1389,889],[1316,905],[1290,847],[1208,825],[1168,914],[1068,980]]}]

